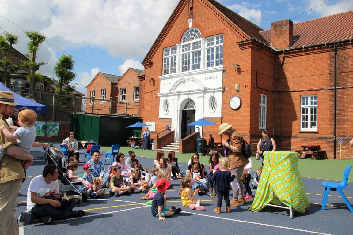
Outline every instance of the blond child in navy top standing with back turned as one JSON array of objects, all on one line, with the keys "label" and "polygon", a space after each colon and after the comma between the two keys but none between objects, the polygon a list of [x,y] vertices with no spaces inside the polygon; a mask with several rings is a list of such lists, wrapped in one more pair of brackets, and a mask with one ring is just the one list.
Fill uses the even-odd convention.
[{"label": "blond child in navy top standing with back turned", "polygon": [[231,182],[235,179],[235,175],[231,175],[230,171],[227,171],[229,161],[227,157],[223,157],[220,160],[218,171],[213,170],[212,180],[216,181],[217,187],[217,208],[214,212],[220,214],[222,207],[222,199],[226,202],[226,212],[231,212],[231,202],[229,201],[229,189],[231,188]]}]

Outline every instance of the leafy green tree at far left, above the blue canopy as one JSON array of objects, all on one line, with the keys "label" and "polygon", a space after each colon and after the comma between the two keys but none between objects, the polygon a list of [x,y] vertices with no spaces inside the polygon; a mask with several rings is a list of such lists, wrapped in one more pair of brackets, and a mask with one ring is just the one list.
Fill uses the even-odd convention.
[{"label": "leafy green tree at far left, above the blue canopy", "polygon": [[0,60],[0,67],[4,69],[2,80],[5,81],[5,86],[10,87],[12,73],[15,73],[19,67],[11,62],[12,46],[18,43],[18,36],[9,32],[4,32],[0,35],[0,50],[4,54],[4,58]]}]

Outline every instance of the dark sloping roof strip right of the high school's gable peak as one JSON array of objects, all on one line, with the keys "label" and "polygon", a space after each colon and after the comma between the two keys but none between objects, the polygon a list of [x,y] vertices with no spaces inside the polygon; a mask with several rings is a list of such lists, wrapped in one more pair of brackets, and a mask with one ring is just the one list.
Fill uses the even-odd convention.
[{"label": "dark sloping roof strip right of the high school's gable peak", "polygon": [[231,20],[235,25],[237,25],[241,30],[243,30],[249,37],[253,39],[257,39],[265,44],[267,42],[263,38],[263,36],[259,33],[262,31],[259,26],[253,24],[249,20],[245,19],[244,17],[239,16],[234,11],[228,9],[227,7],[223,6],[219,2],[215,0],[208,0],[212,5],[214,5],[220,12],[222,12],[229,20]]}]

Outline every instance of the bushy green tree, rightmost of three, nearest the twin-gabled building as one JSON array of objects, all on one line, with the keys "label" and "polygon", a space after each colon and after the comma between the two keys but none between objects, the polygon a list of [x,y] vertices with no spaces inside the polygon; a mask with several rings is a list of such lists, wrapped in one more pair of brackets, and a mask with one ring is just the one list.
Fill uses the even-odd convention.
[{"label": "bushy green tree, rightmost of three, nearest the twin-gabled building", "polygon": [[[70,94],[75,88],[76,84],[72,84],[72,81],[76,77],[76,73],[72,72],[75,61],[72,60],[71,55],[62,55],[59,60],[55,63],[52,72],[58,78],[58,86],[55,88],[56,94]],[[57,103],[65,106],[71,102],[70,97],[59,97]]]}]

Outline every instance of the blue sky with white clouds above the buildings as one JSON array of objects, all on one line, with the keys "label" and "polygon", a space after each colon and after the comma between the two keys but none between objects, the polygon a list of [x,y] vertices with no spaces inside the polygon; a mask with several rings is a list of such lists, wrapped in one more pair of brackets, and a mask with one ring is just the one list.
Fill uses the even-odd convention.
[{"label": "blue sky with white clouds above the buildings", "polygon": [[[86,94],[86,86],[98,72],[122,75],[129,67],[143,70],[141,61],[178,2],[0,0],[0,33],[18,35],[20,43],[15,48],[22,54],[27,53],[28,43],[24,30],[45,35],[47,42],[41,45],[37,61],[48,64],[39,72],[53,77],[51,71],[58,58],[71,54],[76,61],[77,90]],[[296,23],[353,10],[352,0],[219,2],[264,30],[271,28],[271,22],[282,19]]]}]

